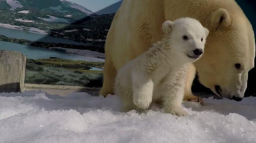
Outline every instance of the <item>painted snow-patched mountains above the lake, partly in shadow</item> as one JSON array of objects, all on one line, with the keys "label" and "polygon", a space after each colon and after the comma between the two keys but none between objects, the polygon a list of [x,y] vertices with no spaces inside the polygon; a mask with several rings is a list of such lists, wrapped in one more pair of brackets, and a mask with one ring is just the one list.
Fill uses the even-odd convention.
[{"label": "painted snow-patched mountains above the lake, partly in shadow", "polygon": [[113,17],[66,0],[0,0],[0,26],[100,45]]}]

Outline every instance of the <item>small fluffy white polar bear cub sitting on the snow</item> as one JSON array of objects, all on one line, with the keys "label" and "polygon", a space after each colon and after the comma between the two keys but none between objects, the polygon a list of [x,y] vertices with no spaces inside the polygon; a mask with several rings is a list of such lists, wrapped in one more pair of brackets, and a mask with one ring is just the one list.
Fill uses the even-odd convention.
[{"label": "small fluffy white polar bear cub sitting on the snow", "polygon": [[162,101],[164,112],[188,114],[181,106],[186,64],[200,58],[209,31],[188,17],[165,21],[162,31],[160,42],[118,71],[114,92],[121,98],[123,111],[145,110],[152,101]]}]

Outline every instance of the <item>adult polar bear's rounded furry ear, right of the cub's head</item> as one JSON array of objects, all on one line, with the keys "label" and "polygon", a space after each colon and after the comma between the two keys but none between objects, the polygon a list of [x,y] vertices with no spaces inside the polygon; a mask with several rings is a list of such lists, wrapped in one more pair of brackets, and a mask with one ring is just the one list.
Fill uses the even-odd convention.
[{"label": "adult polar bear's rounded furry ear, right of the cub's head", "polygon": [[222,27],[227,27],[230,23],[230,14],[226,9],[217,9],[211,16],[211,26],[214,32]]}]

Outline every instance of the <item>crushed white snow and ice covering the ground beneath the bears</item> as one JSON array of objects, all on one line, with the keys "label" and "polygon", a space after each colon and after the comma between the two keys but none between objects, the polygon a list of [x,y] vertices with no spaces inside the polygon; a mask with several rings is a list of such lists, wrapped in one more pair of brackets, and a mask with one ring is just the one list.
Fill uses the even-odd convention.
[{"label": "crushed white snow and ice covering the ground beneath the bears", "polygon": [[116,96],[0,94],[4,143],[256,143],[256,97],[185,102],[189,116],[119,112]]}]

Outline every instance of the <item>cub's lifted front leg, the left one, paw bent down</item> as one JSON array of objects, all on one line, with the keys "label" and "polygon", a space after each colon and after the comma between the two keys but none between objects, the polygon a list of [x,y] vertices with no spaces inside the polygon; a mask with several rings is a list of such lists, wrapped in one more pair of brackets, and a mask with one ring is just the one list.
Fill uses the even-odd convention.
[{"label": "cub's lifted front leg, the left one, paw bent down", "polygon": [[152,102],[153,81],[144,71],[132,71],[133,103],[140,109],[148,109]]}]

